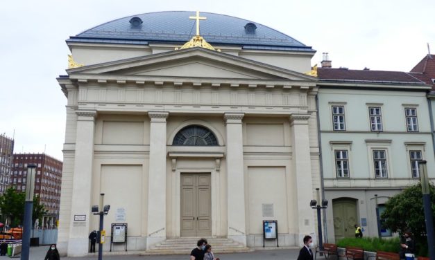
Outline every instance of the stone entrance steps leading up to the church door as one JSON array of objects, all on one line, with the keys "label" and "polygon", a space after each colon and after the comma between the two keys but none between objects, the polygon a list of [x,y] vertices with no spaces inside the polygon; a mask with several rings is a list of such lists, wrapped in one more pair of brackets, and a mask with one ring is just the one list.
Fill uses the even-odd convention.
[{"label": "stone entrance steps leading up to the church door", "polygon": [[[196,248],[198,237],[183,237],[180,239],[167,239],[157,243],[146,250],[146,254],[190,254],[191,250]],[[225,238],[205,237],[207,242],[212,245],[214,254],[219,253],[235,253],[235,252],[252,252],[250,248],[241,245],[240,243]]]}]

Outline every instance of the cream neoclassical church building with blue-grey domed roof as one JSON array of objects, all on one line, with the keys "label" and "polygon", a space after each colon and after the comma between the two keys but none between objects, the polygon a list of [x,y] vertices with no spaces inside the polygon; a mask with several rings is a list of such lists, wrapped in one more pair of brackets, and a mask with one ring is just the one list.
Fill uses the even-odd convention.
[{"label": "cream neoclassical church building with blue-grey domed roof", "polygon": [[87,254],[100,194],[106,237],[128,223],[128,250],[187,237],[262,246],[264,220],[278,221],[280,245],[316,241],[318,87],[304,74],[315,51],[212,13],[194,35],[202,17],[190,15],[125,17],[67,40],[63,253]]}]

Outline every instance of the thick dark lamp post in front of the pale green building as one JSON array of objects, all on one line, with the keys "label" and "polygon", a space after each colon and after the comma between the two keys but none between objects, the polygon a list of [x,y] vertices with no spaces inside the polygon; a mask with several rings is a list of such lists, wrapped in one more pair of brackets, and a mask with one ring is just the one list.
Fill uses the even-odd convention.
[{"label": "thick dark lamp post in front of the pale green building", "polygon": [[423,193],[423,207],[425,209],[425,222],[427,234],[427,246],[429,248],[429,259],[435,260],[435,245],[434,245],[434,222],[432,221],[432,205],[430,201],[429,178],[427,177],[427,161],[420,160],[420,180],[421,191]]}]

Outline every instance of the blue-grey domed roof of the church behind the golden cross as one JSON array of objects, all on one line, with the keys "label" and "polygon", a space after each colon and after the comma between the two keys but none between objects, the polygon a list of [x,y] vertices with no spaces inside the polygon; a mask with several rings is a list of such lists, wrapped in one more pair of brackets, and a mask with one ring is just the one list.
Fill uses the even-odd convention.
[{"label": "blue-grey domed roof of the church behind the golden cross", "polygon": [[[196,33],[195,12],[149,12],[109,21],[67,39],[67,42],[184,44]],[[201,12],[200,34],[210,44],[236,45],[248,49],[314,50],[300,41],[253,21]]]}]

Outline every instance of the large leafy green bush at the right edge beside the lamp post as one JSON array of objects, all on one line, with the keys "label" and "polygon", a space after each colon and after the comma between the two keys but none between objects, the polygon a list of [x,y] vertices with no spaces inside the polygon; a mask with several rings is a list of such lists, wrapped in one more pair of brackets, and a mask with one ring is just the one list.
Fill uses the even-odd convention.
[{"label": "large leafy green bush at the right edge beside the lamp post", "polygon": [[[432,201],[432,214],[434,214],[435,186],[429,183],[429,189]],[[407,187],[400,194],[391,197],[385,203],[385,211],[381,218],[384,219],[382,223],[383,228],[389,228],[392,232],[398,232],[399,234],[410,231],[417,245],[420,245],[420,252],[427,248],[421,183]]]}]

